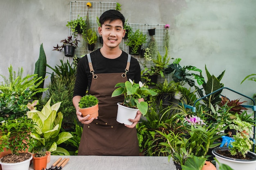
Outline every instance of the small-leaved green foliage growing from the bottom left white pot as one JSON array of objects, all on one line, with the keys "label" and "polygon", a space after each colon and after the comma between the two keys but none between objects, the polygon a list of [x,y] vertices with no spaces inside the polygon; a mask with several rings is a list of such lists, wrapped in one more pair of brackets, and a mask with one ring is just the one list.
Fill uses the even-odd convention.
[{"label": "small-leaved green foliage growing from the bottom left white pot", "polygon": [[2,121],[0,123],[0,135],[4,137],[0,138],[0,148],[5,147],[11,150],[13,154],[18,154],[27,148],[31,151],[35,146],[35,140],[30,136],[33,132],[35,132],[35,123],[26,116]]}]

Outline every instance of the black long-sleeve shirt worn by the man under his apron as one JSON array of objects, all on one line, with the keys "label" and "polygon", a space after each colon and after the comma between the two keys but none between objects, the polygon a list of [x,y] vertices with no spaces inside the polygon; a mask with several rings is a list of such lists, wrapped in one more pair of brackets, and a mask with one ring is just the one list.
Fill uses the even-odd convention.
[{"label": "black long-sleeve shirt worn by the man under his apron", "polygon": [[[128,54],[124,51],[122,52],[121,56],[115,59],[104,57],[99,49],[90,53],[90,56],[94,74],[125,72]],[[129,72],[127,72],[127,78],[134,80],[135,83],[139,83],[139,81],[141,81],[140,72],[141,70],[139,62],[137,59],[131,57],[130,69]],[[84,96],[86,90],[90,89],[91,82],[92,73],[90,73],[87,55],[85,55],[79,60],[77,65],[76,83],[74,86],[73,96]]]}]

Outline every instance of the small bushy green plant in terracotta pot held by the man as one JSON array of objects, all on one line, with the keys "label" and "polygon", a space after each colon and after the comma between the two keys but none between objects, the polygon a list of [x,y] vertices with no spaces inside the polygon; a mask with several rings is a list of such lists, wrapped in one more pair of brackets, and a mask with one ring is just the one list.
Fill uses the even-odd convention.
[{"label": "small bushy green plant in terracotta pot held by the man", "polygon": [[82,113],[82,116],[85,117],[90,114],[91,119],[99,116],[99,100],[94,95],[88,94],[83,96],[79,101],[79,111]]}]

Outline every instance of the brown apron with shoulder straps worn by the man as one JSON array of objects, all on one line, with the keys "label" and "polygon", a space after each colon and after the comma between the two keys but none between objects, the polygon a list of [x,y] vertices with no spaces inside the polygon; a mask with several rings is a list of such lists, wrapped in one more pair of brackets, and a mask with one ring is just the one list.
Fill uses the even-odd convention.
[{"label": "brown apron with shoulder straps worn by the man", "polygon": [[89,125],[83,125],[78,155],[139,156],[136,128],[127,128],[116,121],[117,103],[123,102],[124,96],[111,98],[115,85],[127,81],[130,55],[125,73],[106,74],[94,74],[90,54],[87,56],[92,73],[89,94],[99,99],[99,116]]}]

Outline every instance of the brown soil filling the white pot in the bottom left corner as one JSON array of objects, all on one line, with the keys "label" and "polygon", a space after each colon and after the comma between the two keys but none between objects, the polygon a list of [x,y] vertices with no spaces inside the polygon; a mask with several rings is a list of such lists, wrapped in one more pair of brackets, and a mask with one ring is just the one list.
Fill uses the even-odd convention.
[{"label": "brown soil filling the white pot in the bottom left corner", "polygon": [[19,155],[7,154],[7,155],[5,155],[4,157],[1,158],[1,161],[3,163],[18,163],[18,162],[26,161],[30,157],[31,157],[31,154],[27,153],[27,152],[19,153]]}]

